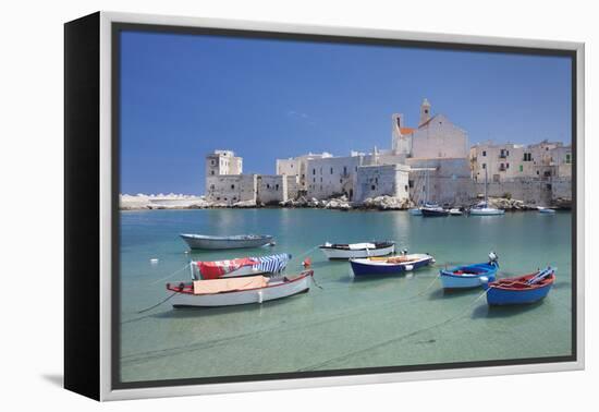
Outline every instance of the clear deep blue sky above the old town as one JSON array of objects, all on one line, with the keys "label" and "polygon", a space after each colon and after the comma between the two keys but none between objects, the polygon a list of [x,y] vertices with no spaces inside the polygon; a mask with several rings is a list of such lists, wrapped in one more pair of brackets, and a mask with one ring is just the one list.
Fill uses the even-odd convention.
[{"label": "clear deep blue sky above the old town", "polygon": [[121,35],[121,192],[204,192],[204,159],[391,146],[428,98],[470,144],[571,142],[567,58],[181,34]]}]

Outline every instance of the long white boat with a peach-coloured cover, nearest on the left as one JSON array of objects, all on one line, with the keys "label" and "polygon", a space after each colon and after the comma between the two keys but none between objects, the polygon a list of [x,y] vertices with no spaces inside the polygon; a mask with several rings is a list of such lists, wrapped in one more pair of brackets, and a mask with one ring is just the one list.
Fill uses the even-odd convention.
[{"label": "long white boat with a peach-coloured cover, nearest on the left", "polygon": [[310,289],[313,270],[290,277],[194,280],[192,282],[167,283],[167,290],[174,292],[173,307],[233,306],[262,303],[307,292]]}]

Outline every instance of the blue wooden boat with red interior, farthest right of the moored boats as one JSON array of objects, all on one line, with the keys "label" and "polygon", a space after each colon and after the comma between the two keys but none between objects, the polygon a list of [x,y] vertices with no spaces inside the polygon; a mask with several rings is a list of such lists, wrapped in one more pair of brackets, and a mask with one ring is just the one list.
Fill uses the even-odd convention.
[{"label": "blue wooden boat with red interior, farthest right of the moored boats", "polygon": [[487,283],[489,305],[529,304],[546,298],[555,282],[555,269],[537,270],[517,278],[505,278]]}]

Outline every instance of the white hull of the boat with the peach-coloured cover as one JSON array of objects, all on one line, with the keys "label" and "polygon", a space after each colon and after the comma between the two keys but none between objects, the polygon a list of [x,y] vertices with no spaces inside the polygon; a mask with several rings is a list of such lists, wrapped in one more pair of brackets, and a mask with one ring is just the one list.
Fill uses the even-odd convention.
[{"label": "white hull of the boat with the peach-coloured cover", "polygon": [[176,293],[173,307],[219,307],[262,303],[307,292],[311,284],[311,272],[279,284],[254,290],[240,290],[211,294]]}]

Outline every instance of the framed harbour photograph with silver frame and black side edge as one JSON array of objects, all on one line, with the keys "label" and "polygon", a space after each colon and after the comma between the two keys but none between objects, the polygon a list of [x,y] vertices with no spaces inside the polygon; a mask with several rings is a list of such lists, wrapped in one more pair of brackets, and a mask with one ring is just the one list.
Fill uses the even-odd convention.
[{"label": "framed harbour photograph with silver frame and black side edge", "polygon": [[64,385],[584,367],[584,45],[65,24]]}]

